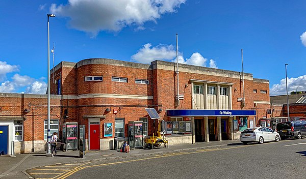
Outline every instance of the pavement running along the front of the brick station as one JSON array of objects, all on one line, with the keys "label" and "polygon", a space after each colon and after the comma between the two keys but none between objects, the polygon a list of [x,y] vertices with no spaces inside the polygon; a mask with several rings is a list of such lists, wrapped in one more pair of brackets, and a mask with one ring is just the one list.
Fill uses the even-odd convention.
[{"label": "pavement running along the front of the brick station", "polygon": [[222,140],[210,142],[196,142],[195,144],[179,144],[169,145],[168,147],[159,147],[152,149],[131,148],[129,154],[122,153],[119,150],[105,150],[105,151],[86,151],[85,158],[79,157],[79,151],[58,151],[56,157],[51,157],[45,152],[18,154],[15,157],[0,156],[0,178],[32,178],[27,172],[28,169],[36,168],[46,165],[60,165],[65,163],[82,163],[92,160],[105,160],[123,157],[144,156],[161,153],[171,153],[186,150],[198,150],[202,148],[221,147],[226,145],[241,144],[240,140]]}]

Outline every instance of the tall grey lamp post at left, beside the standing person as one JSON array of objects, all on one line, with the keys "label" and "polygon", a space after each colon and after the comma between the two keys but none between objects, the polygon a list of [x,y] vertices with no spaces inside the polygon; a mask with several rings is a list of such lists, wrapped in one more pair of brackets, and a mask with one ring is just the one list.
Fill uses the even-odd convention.
[{"label": "tall grey lamp post at left, beside the standing person", "polygon": [[48,96],[48,107],[47,107],[47,154],[51,154],[50,152],[50,42],[49,42],[49,17],[55,17],[54,14],[47,14],[48,17],[48,86],[47,86],[47,96]]}]

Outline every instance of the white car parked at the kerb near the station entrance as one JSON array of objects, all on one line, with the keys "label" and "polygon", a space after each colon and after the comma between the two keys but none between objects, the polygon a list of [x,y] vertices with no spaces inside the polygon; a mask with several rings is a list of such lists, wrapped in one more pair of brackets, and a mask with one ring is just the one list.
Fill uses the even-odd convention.
[{"label": "white car parked at the kerb near the station entrance", "polygon": [[243,144],[247,144],[247,142],[258,142],[264,143],[267,141],[276,141],[278,142],[281,137],[279,134],[266,127],[256,127],[256,128],[248,128],[241,132],[240,141]]}]

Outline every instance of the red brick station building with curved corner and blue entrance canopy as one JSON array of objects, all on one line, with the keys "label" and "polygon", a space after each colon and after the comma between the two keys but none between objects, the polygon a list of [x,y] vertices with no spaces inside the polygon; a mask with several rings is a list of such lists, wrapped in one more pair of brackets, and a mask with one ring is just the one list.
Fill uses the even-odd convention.
[{"label": "red brick station building with curved corner and blue entrance canopy", "polygon": [[[114,137],[128,140],[132,121],[142,121],[141,132],[151,136],[164,120],[165,138],[175,144],[233,140],[241,130],[267,118],[268,80],[244,73],[243,86],[240,72],[179,64],[177,73],[176,68],[164,61],[61,62],[51,74],[51,132],[69,140],[68,132],[84,125],[87,149],[109,150]],[[45,149],[46,104],[46,95],[0,95],[0,127],[7,129],[8,153],[12,140],[16,153]],[[148,115],[148,108],[160,118]]]}]

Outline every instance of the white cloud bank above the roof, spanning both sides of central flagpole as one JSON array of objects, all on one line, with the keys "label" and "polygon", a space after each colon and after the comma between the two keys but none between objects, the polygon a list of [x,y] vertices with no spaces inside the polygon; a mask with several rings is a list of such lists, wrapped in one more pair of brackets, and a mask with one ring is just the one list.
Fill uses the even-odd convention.
[{"label": "white cloud bank above the roof, spanning both sides of central flagpole", "polygon": [[[176,48],[173,45],[157,45],[152,46],[152,44],[147,43],[140,48],[136,54],[131,56],[132,61],[149,64],[155,60],[162,61],[170,61],[176,62]],[[177,60],[180,64],[188,64],[188,65],[196,65],[206,67],[207,58],[203,57],[200,53],[193,53],[190,58],[184,59],[184,55],[182,52],[179,52],[177,56]],[[210,60],[211,68],[218,68],[216,62],[211,59]]]}]

